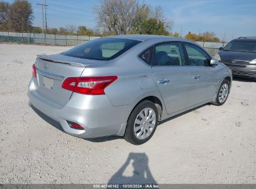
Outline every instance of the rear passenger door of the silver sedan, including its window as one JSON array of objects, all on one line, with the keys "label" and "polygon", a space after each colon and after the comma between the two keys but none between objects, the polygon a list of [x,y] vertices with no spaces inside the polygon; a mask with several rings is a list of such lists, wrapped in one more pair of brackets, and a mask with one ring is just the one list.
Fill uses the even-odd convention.
[{"label": "rear passenger door of the silver sedan, including its window", "polygon": [[153,79],[168,114],[187,108],[192,84],[180,42],[164,42],[154,48]]}]

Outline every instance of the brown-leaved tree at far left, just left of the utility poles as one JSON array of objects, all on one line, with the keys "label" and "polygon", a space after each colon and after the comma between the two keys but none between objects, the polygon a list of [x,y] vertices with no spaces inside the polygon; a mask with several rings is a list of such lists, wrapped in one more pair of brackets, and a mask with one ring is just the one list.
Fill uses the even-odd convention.
[{"label": "brown-leaved tree at far left, just left of the utility poles", "polygon": [[9,8],[7,25],[14,32],[28,32],[33,21],[31,3],[27,0],[15,0]]}]

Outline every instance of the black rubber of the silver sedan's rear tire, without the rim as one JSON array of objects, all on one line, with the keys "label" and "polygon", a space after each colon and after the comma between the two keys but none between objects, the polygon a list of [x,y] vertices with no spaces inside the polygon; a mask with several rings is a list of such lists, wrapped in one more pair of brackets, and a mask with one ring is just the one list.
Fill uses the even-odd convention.
[{"label": "black rubber of the silver sedan's rear tire, without the rim", "polygon": [[[155,116],[156,116],[156,121],[155,121],[154,128],[152,129],[150,135],[148,137],[146,137],[145,139],[138,139],[138,137],[135,136],[135,121],[137,119],[138,114],[140,114],[141,111],[143,111],[143,109],[145,109],[145,108],[153,109]],[[135,144],[135,145],[143,144],[143,143],[147,142],[149,139],[151,139],[151,137],[154,134],[154,131],[156,131],[157,126],[158,126],[158,109],[156,108],[156,105],[149,100],[142,101],[140,104],[138,104],[133,109],[133,111],[131,112],[131,114],[128,118],[126,131],[125,131],[125,140],[130,142],[131,144]]]}]

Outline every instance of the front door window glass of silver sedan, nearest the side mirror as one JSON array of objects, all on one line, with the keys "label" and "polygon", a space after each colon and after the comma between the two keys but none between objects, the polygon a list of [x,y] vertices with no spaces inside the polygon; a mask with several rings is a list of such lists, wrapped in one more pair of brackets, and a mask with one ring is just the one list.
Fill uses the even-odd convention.
[{"label": "front door window glass of silver sedan, nearest the side mirror", "polygon": [[201,48],[195,45],[185,44],[190,66],[209,65],[209,56]]}]

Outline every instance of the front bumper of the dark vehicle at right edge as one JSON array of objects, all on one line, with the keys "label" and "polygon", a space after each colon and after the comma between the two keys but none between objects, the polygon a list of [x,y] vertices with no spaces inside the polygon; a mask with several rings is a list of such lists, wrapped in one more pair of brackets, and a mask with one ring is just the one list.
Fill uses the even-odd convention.
[{"label": "front bumper of the dark vehicle at right edge", "polygon": [[235,66],[226,64],[230,70],[232,70],[232,75],[234,76],[246,76],[250,78],[256,78],[256,65],[245,65],[245,66]]}]

